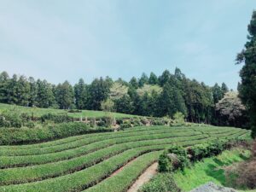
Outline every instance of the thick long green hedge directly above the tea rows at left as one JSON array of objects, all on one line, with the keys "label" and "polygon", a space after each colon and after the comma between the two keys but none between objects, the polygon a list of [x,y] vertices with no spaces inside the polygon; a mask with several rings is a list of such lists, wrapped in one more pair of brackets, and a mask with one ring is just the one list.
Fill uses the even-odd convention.
[{"label": "thick long green hedge directly above the tea rows at left", "polygon": [[29,128],[6,128],[0,129],[0,145],[40,143],[57,138],[70,137],[79,134],[106,132],[109,129],[92,129],[88,125],[80,122],[62,123],[49,125],[37,129]]}]

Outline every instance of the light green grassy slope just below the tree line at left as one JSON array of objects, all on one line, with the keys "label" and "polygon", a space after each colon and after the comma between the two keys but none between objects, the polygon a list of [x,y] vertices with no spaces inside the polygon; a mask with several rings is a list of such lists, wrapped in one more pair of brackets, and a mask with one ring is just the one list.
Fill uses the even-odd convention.
[{"label": "light green grassy slope just below the tree line at left", "polygon": [[[66,114],[67,110],[62,109],[54,109],[54,108],[29,108],[29,107],[22,107],[22,106],[16,106],[16,105],[9,105],[9,104],[3,104],[0,103],[0,112],[5,109],[11,109],[11,108],[18,108],[22,113],[34,113],[35,117],[40,117],[41,115],[45,113],[55,113],[55,114]],[[84,117],[95,117],[100,118],[103,116],[106,116],[105,112],[102,111],[91,111],[91,110],[82,110],[82,113],[67,113],[69,116],[74,118],[80,118],[81,116]],[[134,117],[135,115],[131,114],[124,114],[124,113],[113,113],[113,115],[116,118],[125,118],[125,117]]]}]

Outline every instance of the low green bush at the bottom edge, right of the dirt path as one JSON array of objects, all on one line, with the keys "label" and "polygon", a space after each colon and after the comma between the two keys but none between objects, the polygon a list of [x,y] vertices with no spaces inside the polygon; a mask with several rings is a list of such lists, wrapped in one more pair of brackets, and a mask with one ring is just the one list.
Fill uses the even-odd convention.
[{"label": "low green bush at the bottom edge, right of the dirt path", "polygon": [[144,184],[139,192],[179,192],[171,173],[159,173],[148,183]]}]

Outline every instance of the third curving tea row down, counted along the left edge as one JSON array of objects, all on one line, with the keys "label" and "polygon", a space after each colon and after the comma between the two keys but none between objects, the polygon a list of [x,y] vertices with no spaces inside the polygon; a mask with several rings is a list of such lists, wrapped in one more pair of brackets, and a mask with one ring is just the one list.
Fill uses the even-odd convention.
[{"label": "third curving tea row down, counted along the left edge", "polygon": [[131,148],[141,148],[147,146],[148,148],[154,148],[158,145],[166,145],[167,147],[170,144],[177,142],[180,144],[187,144],[187,142],[197,140],[197,138],[198,137],[174,137],[164,140],[156,139],[134,143],[121,143],[108,148],[102,148],[90,154],[86,154],[70,160],[61,160],[59,162],[38,166],[15,167],[12,169],[2,170],[0,169],[0,175],[2,175],[2,177],[0,177],[0,185],[10,183],[26,183],[42,180],[49,177],[59,177],[67,173],[77,172],[81,169],[88,168],[103,160],[108,160],[108,158],[112,157],[113,155],[123,153],[125,150],[129,150]]}]

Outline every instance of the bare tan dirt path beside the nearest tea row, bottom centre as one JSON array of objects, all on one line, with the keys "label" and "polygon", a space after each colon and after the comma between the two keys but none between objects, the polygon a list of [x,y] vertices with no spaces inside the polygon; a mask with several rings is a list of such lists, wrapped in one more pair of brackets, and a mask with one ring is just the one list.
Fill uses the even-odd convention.
[{"label": "bare tan dirt path beside the nearest tea row, bottom centre", "polygon": [[158,163],[154,163],[151,166],[148,166],[143,174],[137,178],[135,183],[131,185],[131,188],[127,192],[137,192],[137,190],[143,186],[144,183],[147,183],[157,172]]}]

